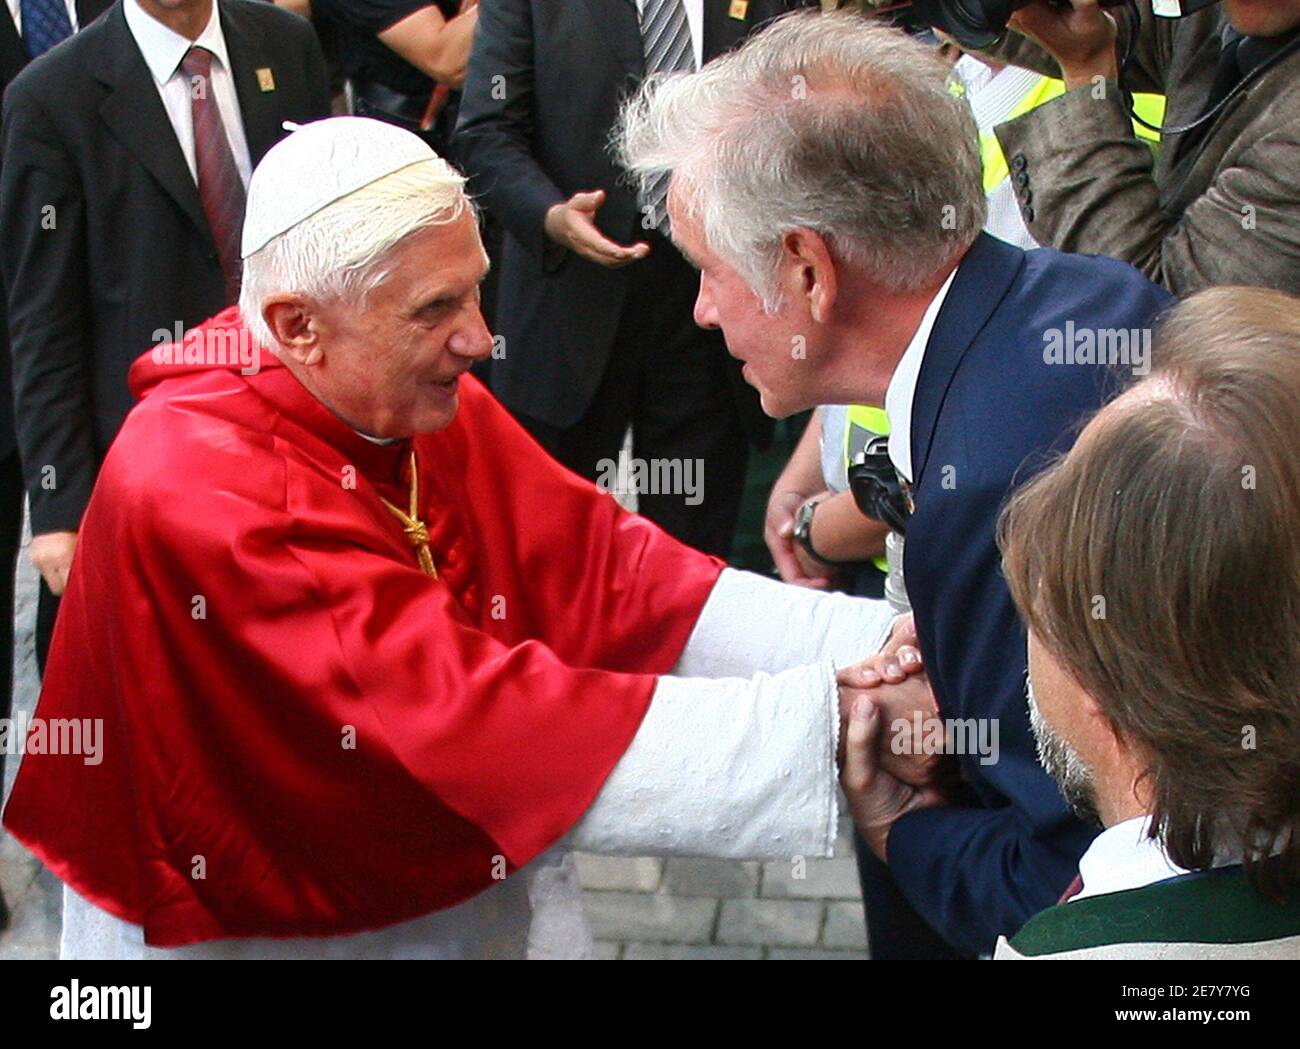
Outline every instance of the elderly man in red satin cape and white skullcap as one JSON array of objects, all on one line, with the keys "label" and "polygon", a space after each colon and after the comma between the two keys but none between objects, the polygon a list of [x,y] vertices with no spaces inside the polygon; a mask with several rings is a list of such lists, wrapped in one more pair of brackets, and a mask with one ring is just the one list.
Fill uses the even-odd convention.
[{"label": "elderly man in red satin cape and white skullcap", "polygon": [[29,753],[5,812],[64,955],[582,954],[566,848],[829,854],[835,668],[884,607],[532,442],[467,374],[488,263],[416,136],[287,136],[243,255],[239,309],[133,368],[82,525],[35,716],[100,760]]}]

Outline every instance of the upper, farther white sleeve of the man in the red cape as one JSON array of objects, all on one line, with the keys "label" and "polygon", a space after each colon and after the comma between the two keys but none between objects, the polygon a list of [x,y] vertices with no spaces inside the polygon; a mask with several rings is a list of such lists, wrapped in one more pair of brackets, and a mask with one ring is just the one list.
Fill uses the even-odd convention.
[{"label": "upper, farther white sleeve of the man in the red cape", "polygon": [[894,612],[884,601],[826,594],[724,568],[672,668],[676,677],[749,677],[875,655]]}]

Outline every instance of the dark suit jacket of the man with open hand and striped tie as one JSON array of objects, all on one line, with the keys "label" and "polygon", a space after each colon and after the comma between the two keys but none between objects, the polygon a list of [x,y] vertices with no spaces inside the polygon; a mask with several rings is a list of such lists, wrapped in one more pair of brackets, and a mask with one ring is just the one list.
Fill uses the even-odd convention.
[{"label": "dark suit jacket of the man with open hand and striped tie", "polygon": [[[737,19],[728,0],[705,0],[705,58],[802,5],[750,0]],[[619,104],[645,75],[637,5],[484,0],[478,10],[456,149],[506,227],[495,313],[506,354],[493,361],[493,390],[512,409],[569,426],[604,373],[637,264],[580,259],[547,239],[543,221],[551,205],[601,188],[601,230],[620,243],[640,238],[636,194],[608,153]]]}]

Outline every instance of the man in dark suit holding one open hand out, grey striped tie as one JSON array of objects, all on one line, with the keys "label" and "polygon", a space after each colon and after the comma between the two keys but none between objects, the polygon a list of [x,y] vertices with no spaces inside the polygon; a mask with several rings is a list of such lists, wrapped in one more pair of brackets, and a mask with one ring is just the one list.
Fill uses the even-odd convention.
[{"label": "man in dark suit holding one open hand out, grey striped tie", "polygon": [[608,134],[647,73],[696,69],[801,5],[485,0],[460,103],[460,160],[507,233],[494,393],[597,481],[629,424],[634,460],[702,460],[702,499],[640,487],[638,508],[720,555],[740,506],[746,420],[755,434],[766,422],[722,338],[692,324],[696,277],[664,235],[662,194],[633,192]]}]

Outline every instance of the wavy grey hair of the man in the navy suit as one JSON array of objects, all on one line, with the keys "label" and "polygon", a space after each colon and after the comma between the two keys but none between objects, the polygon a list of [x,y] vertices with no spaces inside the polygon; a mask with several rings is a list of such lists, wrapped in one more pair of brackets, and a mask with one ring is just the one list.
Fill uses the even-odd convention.
[{"label": "wavy grey hair of the man in the navy suit", "polygon": [[698,73],[659,74],[623,107],[612,148],[673,194],[763,300],[781,238],[822,234],[890,291],[967,248],[987,204],[979,134],[933,47],[848,13],[777,19]]}]

